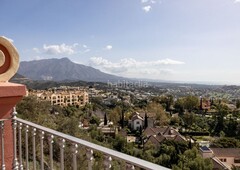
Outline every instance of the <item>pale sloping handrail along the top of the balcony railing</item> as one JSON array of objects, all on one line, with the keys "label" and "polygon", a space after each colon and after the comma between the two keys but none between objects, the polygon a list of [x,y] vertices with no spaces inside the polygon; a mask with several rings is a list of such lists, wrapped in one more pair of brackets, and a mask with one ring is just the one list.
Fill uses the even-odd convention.
[{"label": "pale sloping handrail along the top of the balcony railing", "polygon": [[112,150],[112,149],[109,149],[109,148],[106,148],[106,147],[103,147],[103,146],[100,146],[100,145],[97,145],[97,144],[94,144],[91,142],[61,133],[61,132],[58,132],[56,130],[53,130],[53,129],[50,129],[47,127],[43,127],[41,125],[23,120],[21,118],[14,117],[13,119],[16,120],[17,122],[23,123],[25,125],[39,129],[41,131],[45,131],[46,133],[49,133],[51,135],[55,135],[60,138],[67,139],[70,142],[80,144],[89,149],[93,149],[95,151],[100,151],[106,155],[112,156],[113,158],[124,160],[127,163],[130,163],[131,165],[135,165],[140,168],[149,169],[149,170],[150,169],[152,169],[152,170],[167,170],[168,169],[166,167],[163,167],[163,166],[160,166],[160,165],[157,165],[157,164],[154,164],[154,163],[151,163],[151,162],[148,162],[148,161],[145,161],[145,160],[142,160],[142,159],[139,159],[139,158],[136,158],[136,157],[133,157],[133,156],[130,156],[130,155],[127,155],[127,154],[124,154],[124,153],[121,153],[121,152],[118,152],[118,151],[115,151],[115,150]]}]

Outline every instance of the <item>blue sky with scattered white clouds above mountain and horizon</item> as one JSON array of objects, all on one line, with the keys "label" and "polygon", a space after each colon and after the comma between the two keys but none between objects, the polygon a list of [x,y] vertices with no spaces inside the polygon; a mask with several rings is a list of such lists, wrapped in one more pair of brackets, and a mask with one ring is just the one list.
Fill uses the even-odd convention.
[{"label": "blue sky with scattered white clouds above mountain and horizon", "polygon": [[240,84],[240,0],[1,0],[21,61],[68,57],[133,78]]}]

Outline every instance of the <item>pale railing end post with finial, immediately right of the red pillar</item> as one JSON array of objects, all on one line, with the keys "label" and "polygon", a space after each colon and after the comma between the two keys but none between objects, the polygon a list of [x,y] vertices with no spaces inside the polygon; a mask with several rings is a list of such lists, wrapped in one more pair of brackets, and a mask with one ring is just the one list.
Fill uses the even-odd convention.
[{"label": "pale railing end post with finial, immediately right of the red pillar", "polygon": [[13,127],[13,170],[18,170],[17,160],[17,121],[15,120],[17,115],[16,108],[13,108],[12,113],[12,127]]}]

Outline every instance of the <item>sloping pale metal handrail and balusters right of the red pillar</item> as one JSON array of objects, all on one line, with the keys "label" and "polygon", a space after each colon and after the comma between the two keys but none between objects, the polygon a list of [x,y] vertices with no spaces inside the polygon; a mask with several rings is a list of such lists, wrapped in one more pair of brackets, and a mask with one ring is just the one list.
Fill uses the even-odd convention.
[{"label": "sloping pale metal handrail and balusters right of the red pillar", "polygon": [[[16,113],[14,112],[13,115],[15,115]],[[17,122],[16,122],[17,121]],[[1,121],[0,121],[1,122]],[[96,145],[96,144],[93,144],[91,142],[87,142],[87,141],[84,141],[82,139],[79,139],[79,138],[76,138],[76,137],[73,137],[73,136],[70,136],[70,135],[67,135],[67,134],[64,134],[64,133],[61,133],[61,132],[57,132],[55,130],[52,130],[52,129],[49,129],[49,128],[46,128],[46,127],[43,127],[41,125],[37,125],[35,123],[32,123],[32,122],[29,122],[29,121],[26,121],[26,120],[23,120],[23,119],[20,119],[20,118],[16,118],[16,116],[14,117],[13,116],[13,120],[12,120],[12,127],[13,127],[13,137],[14,137],[14,148],[13,148],[13,153],[14,153],[14,160],[13,160],[13,170],[18,170],[19,168],[19,165],[18,165],[18,158],[16,157],[16,131],[17,131],[17,127],[16,127],[16,124],[19,124],[19,123],[22,123],[26,129],[25,131],[25,147],[26,147],[26,165],[28,164],[28,161],[31,160],[31,163],[33,162],[33,165],[31,164],[31,166],[29,167],[26,167],[26,169],[33,169],[33,170],[36,170],[37,168],[38,169],[41,169],[43,166],[38,167],[37,165],[37,162],[36,162],[36,129],[38,129],[39,132],[41,132],[40,134],[40,138],[41,140],[39,142],[41,142],[41,153],[43,153],[43,137],[44,137],[44,133],[47,133],[48,134],[48,142],[49,142],[49,146],[50,146],[50,151],[49,151],[49,154],[50,154],[50,164],[49,165],[49,169],[53,169],[53,137],[56,137],[58,136],[58,146],[60,148],[60,155],[57,155],[58,157],[60,157],[60,161],[58,162],[60,164],[60,167],[58,167],[58,169],[60,170],[64,170],[64,152],[65,152],[65,140],[67,140],[67,142],[69,143],[73,143],[72,146],[71,146],[71,154],[72,154],[72,166],[70,165],[70,167],[66,167],[66,169],[70,169],[72,167],[73,170],[76,170],[80,167],[77,167],[77,156],[78,156],[78,146],[83,146],[86,149],[86,160],[87,160],[87,164],[88,164],[88,170],[92,170],[93,168],[93,162],[94,162],[94,157],[93,157],[93,150],[94,151],[97,151],[97,152],[101,152],[103,153],[105,156],[104,156],[104,162],[102,164],[102,166],[104,166],[104,169],[106,170],[109,170],[112,168],[112,157],[114,157],[115,159],[119,160],[120,162],[125,162],[125,165],[123,166],[123,169],[127,169],[127,170],[134,170],[136,167],[137,169],[138,168],[142,168],[142,169],[166,169],[165,167],[162,167],[162,166],[159,166],[157,164],[153,164],[151,162],[147,162],[147,161],[144,161],[144,160],[141,160],[141,159],[138,159],[136,157],[132,157],[132,156],[129,156],[129,155],[126,155],[126,154],[123,154],[123,153],[120,153],[120,152],[117,152],[117,151],[114,151],[114,150],[111,150],[111,149],[108,149],[108,148],[105,148],[105,147],[102,147],[102,146],[99,146],[99,145]],[[18,125],[17,124],[17,125]],[[29,127],[28,127],[29,126]],[[31,127],[31,128],[30,128]],[[1,131],[1,128],[3,130],[3,125],[0,124],[0,131]],[[28,130],[31,131],[32,133],[32,145],[33,145],[33,148],[31,148],[33,150],[32,153],[28,153],[29,151],[27,150],[28,149],[28,142],[30,141],[30,139],[28,139]],[[43,133],[44,132],[44,133]],[[22,133],[22,132],[20,132]],[[3,132],[2,134],[0,134],[0,137],[2,138],[3,140]],[[42,136],[41,136],[42,135]],[[1,140],[1,139],[0,139]],[[20,139],[21,140],[21,139]],[[67,143],[68,144],[68,143]],[[0,146],[0,147],[3,147]],[[31,158],[30,156],[31,155]],[[42,161],[43,161],[43,154],[42,154]],[[28,160],[29,159],[29,160]],[[29,161],[30,162],[30,161]],[[43,162],[41,162],[42,164]],[[71,164],[71,162],[70,162]],[[18,166],[14,166],[14,165],[18,165]],[[25,164],[24,164],[25,165]],[[66,165],[65,165],[66,166]],[[46,167],[44,167],[46,168]],[[101,168],[101,166],[99,166],[99,168]],[[0,167],[1,169],[1,167]],[[3,169],[3,168],[2,168]],[[6,168],[5,168],[6,169]],[[24,167],[25,169],[25,167]],[[42,168],[43,169],[43,168]]]}]

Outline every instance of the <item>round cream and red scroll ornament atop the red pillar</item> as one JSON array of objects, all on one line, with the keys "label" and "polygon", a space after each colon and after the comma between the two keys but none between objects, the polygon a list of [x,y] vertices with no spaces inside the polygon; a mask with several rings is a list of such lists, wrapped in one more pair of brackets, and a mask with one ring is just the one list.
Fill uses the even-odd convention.
[{"label": "round cream and red scroll ornament atop the red pillar", "polygon": [[13,44],[0,36],[0,82],[7,82],[17,72],[19,54]]}]

